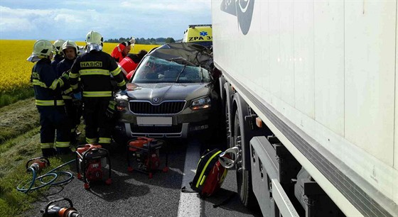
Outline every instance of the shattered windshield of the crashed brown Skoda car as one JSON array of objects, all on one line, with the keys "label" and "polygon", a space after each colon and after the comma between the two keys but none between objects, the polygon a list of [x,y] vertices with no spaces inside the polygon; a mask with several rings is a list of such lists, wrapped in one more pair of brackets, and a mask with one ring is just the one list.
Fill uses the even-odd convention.
[{"label": "shattered windshield of the crashed brown Skoda car", "polygon": [[132,83],[208,83],[212,78],[203,67],[181,59],[163,60],[147,55],[137,67]]}]

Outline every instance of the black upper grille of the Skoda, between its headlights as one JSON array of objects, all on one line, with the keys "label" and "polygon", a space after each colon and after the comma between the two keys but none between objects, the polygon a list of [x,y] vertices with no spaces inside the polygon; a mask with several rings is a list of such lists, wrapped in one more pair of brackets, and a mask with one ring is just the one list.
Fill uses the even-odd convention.
[{"label": "black upper grille of the Skoda, between its headlights", "polygon": [[149,101],[130,101],[130,111],[141,114],[171,114],[183,111],[185,101],[164,101],[153,105]]}]

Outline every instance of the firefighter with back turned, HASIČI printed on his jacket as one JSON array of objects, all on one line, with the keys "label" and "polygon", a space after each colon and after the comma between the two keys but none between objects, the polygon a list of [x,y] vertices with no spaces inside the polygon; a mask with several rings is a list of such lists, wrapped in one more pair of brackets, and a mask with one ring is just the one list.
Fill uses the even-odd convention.
[{"label": "firefighter with back turned, HASI\u010cI printed on his jacket", "polygon": [[117,63],[109,54],[102,52],[102,41],[102,35],[98,32],[92,30],[87,33],[87,52],[78,56],[73,63],[70,85],[75,98],[82,99],[84,104],[86,142],[102,145],[109,150],[115,111],[111,75],[119,89],[122,89],[121,94],[127,94],[127,91]]}]

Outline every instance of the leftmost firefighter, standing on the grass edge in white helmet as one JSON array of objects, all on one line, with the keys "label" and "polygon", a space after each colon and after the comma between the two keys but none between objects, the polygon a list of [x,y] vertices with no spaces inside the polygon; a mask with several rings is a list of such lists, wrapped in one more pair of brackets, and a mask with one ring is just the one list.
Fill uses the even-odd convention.
[{"label": "leftmost firefighter, standing on the grass edge in white helmet", "polygon": [[[48,40],[37,40],[28,61],[36,62],[33,66],[31,80],[36,98],[36,107],[40,113],[41,151],[44,157],[67,154],[70,152],[69,130],[65,113],[65,104],[60,88],[67,75],[58,77],[51,67],[54,46]],[[56,133],[55,148],[54,138]]]}]

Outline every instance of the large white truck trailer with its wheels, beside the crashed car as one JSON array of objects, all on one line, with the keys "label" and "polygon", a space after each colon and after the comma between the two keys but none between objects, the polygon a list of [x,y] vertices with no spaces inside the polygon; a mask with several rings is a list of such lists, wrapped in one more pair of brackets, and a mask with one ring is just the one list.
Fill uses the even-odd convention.
[{"label": "large white truck trailer with its wheels, beside the crashed car", "polygon": [[396,0],[212,0],[227,144],[264,216],[398,216]]}]

